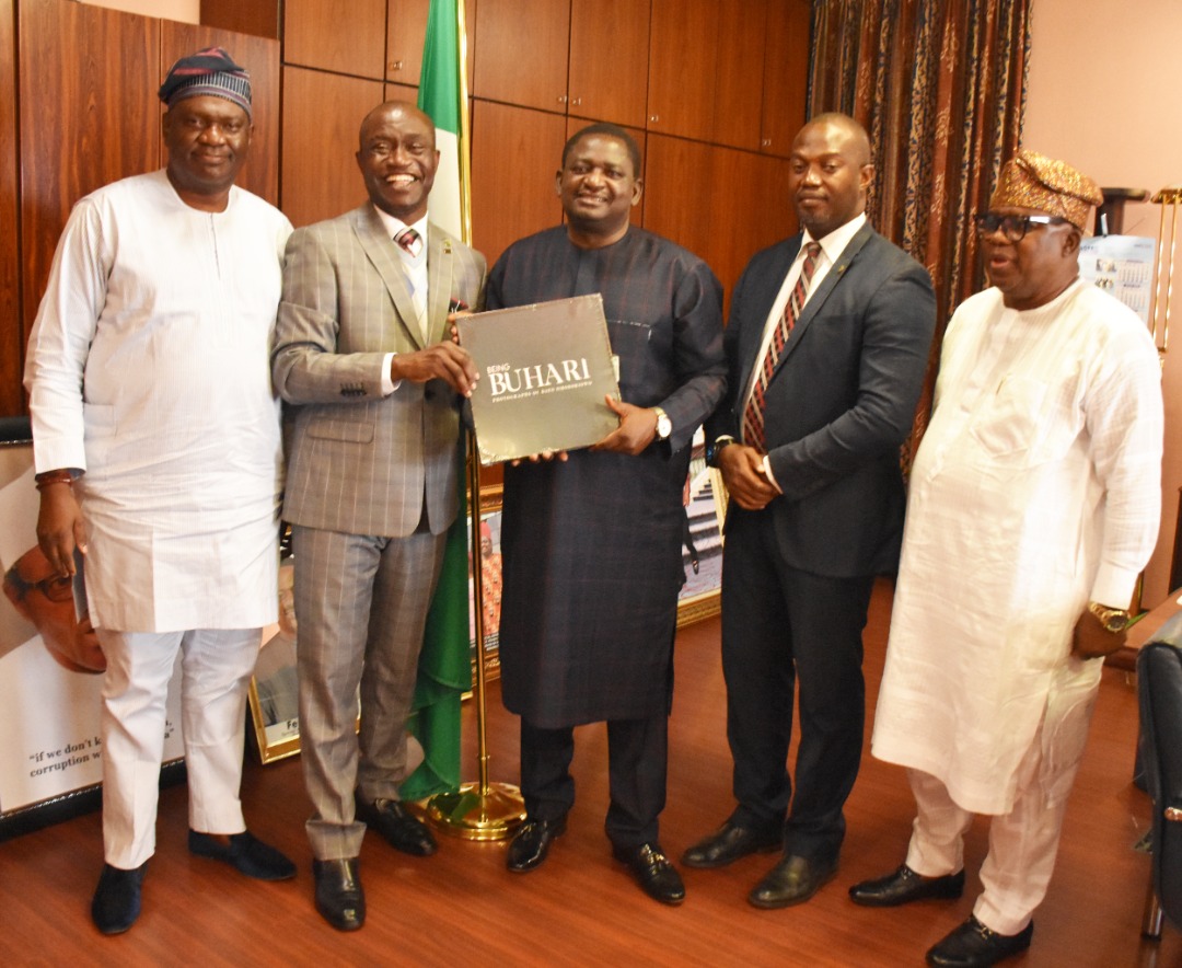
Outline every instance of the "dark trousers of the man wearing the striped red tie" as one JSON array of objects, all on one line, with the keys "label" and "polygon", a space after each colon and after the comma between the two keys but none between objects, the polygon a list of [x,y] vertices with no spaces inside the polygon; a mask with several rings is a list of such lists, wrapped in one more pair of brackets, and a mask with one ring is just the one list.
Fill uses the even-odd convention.
[{"label": "dark trousers of the man wearing the striped red tie", "polygon": [[[862,759],[862,630],[873,576],[788,567],[771,514],[735,508],[722,565],[722,671],[734,758],[732,819],[773,829],[785,852],[836,862],[845,799]],[[788,775],[793,693],[800,693],[795,792]]]}]

